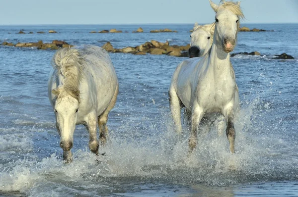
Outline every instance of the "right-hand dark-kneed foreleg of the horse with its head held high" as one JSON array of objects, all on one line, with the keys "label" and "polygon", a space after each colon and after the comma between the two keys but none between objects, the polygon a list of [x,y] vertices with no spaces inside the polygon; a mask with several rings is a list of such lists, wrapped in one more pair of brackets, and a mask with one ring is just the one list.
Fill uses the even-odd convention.
[{"label": "right-hand dark-kneed foreleg of the horse with its head held high", "polygon": [[234,144],[235,144],[235,128],[234,128],[234,107],[229,107],[226,110],[225,114],[225,121],[226,121],[226,130],[225,134],[229,142],[229,148],[231,153],[234,153]]}]

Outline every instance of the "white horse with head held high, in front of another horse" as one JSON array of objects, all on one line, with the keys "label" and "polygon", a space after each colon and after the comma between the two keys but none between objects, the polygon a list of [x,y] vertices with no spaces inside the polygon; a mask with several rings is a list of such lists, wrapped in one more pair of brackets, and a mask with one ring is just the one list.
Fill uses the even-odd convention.
[{"label": "white horse with head held high, in front of another horse", "polygon": [[220,113],[226,122],[226,136],[234,153],[234,112],[238,106],[238,90],[233,67],[229,60],[236,44],[239,19],[243,18],[240,2],[223,1],[217,5],[214,40],[202,58],[181,62],[173,73],[169,87],[171,114],[176,131],[181,133],[181,107],[191,111],[190,152],[197,146],[197,129],[208,114]]}]

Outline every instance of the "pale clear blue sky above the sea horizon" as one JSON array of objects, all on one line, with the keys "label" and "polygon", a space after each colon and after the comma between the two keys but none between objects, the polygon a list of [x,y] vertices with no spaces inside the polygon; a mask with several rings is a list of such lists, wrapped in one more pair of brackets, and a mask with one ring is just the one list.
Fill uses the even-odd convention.
[{"label": "pale clear blue sky above the sea horizon", "polygon": [[[209,23],[215,16],[208,0],[0,2],[0,25]],[[241,7],[245,23],[298,23],[298,0],[242,0]]]}]

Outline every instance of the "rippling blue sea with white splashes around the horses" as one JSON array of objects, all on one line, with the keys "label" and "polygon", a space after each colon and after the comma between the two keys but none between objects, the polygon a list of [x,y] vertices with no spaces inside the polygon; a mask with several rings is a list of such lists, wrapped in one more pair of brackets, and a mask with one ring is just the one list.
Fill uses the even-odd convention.
[{"label": "rippling blue sea with white splashes around the horses", "polygon": [[[65,164],[47,95],[55,51],[0,46],[0,196],[298,196],[298,24],[245,26],[274,31],[238,33],[234,52],[262,55],[231,58],[241,100],[233,155],[212,124],[209,133],[199,134],[189,158],[186,125],[181,139],[174,132],[167,90],[187,57],[110,53],[120,92],[109,114],[107,146],[99,149],[106,155],[89,151],[88,133],[78,125],[74,159]],[[139,27],[144,33],[132,33]],[[124,33],[89,33],[112,28]],[[163,28],[178,33],[149,33]],[[34,34],[15,34],[21,29]],[[0,26],[0,42],[187,45],[191,29],[191,24]],[[58,33],[36,34],[48,30]],[[272,59],[283,52],[295,59]]]}]

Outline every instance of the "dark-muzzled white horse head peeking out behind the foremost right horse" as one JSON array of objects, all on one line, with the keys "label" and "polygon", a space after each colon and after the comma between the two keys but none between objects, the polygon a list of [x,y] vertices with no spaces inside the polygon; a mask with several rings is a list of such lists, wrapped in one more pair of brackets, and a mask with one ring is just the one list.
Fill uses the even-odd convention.
[{"label": "dark-muzzled white horse head peeking out behind the foremost right horse", "polygon": [[190,35],[189,58],[202,57],[211,48],[213,42],[215,23],[199,25],[195,23]]}]

